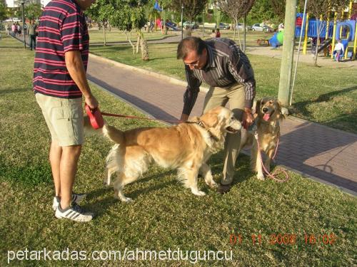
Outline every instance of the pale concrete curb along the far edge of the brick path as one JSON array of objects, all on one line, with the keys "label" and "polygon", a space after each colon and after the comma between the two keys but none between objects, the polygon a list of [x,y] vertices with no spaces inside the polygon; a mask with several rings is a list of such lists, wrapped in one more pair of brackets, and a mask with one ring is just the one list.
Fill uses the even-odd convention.
[{"label": "pale concrete curb along the far edge of the brick path", "polygon": [[[133,70],[133,71],[137,71],[138,73],[151,75],[151,76],[153,76],[155,78],[159,78],[161,80],[165,80],[165,81],[167,81],[169,83],[172,83],[172,84],[175,84],[175,85],[181,85],[181,86],[184,86],[184,87],[187,86],[187,82],[186,81],[178,80],[178,79],[170,77],[168,75],[164,75],[164,74],[161,74],[161,73],[156,73],[156,72],[151,71],[151,70],[145,70],[144,68],[137,68],[137,67],[134,67],[134,66],[126,65],[124,63],[119,63],[117,61],[112,61],[111,59],[104,58],[104,57],[101,57],[101,56],[97,56],[94,53],[89,53],[89,58],[95,58],[96,60],[103,61],[105,63],[109,63],[109,64],[111,64],[113,66],[116,66],[116,67],[119,67],[119,68],[125,68],[126,70]],[[200,87],[200,91],[203,92],[203,93],[207,93],[208,92],[208,88],[201,86]]]}]

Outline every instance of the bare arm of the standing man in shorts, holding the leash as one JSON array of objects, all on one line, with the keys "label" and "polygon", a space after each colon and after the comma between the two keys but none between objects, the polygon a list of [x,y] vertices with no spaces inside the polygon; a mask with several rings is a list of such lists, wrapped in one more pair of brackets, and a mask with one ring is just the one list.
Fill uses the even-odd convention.
[{"label": "bare arm of the standing man in shorts, holding the leash", "polygon": [[71,75],[72,80],[74,80],[74,83],[76,83],[79,90],[81,90],[84,95],[86,104],[89,105],[91,109],[98,107],[99,103],[96,98],[94,98],[94,95],[92,95],[91,88],[89,88],[86,78],[86,70],[84,70],[84,64],[81,58],[81,52],[68,51],[64,54],[64,58],[69,75]]}]

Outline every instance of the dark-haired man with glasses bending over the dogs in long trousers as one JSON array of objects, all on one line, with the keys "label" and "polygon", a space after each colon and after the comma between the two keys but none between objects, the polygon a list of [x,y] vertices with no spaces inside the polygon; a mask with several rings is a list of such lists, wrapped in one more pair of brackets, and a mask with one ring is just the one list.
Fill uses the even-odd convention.
[{"label": "dark-haired man with glasses bending over the dogs in long trousers", "polygon": [[[228,38],[184,38],[177,48],[177,59],[185,64],[188,86],[183,95],[181,120],[186,121],[202,82],[210,85],[204,100],[203,113],[216,106],[230,108],[238,120],[247,126],[253,123],[251,107],[256,95],[256,80],[247,56]],[[241,133],[227,134],[224,146],[224,167],[217,192],[225,194],[231,189],[234,166],[239,153]]]}]

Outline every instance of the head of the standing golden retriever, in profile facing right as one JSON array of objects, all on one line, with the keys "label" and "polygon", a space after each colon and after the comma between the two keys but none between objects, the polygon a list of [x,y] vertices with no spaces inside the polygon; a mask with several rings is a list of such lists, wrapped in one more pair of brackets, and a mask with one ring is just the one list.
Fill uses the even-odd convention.
[{"label": "head of the standing golden retriever, in profile facing right", "polygon": [[216,137],[221,137],[225,132],[239,132],[242,127],[241,122],[234,117],[233,112],[223,107],[208,110],[200,117],[200,120]]}]

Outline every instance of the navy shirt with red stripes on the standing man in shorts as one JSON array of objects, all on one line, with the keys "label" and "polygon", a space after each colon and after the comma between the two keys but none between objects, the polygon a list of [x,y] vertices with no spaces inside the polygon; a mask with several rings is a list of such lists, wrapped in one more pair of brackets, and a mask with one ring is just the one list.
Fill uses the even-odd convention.
[{"label": "navy shirt with red stripes on the standing man in shorts", "polygon": [[81,8],[74,0],[52,0],[42,12],[36,38],[34,92],[56,98],[81,98],[66,68],[64,53],[81,51],[86,69],[89,34]]}]

